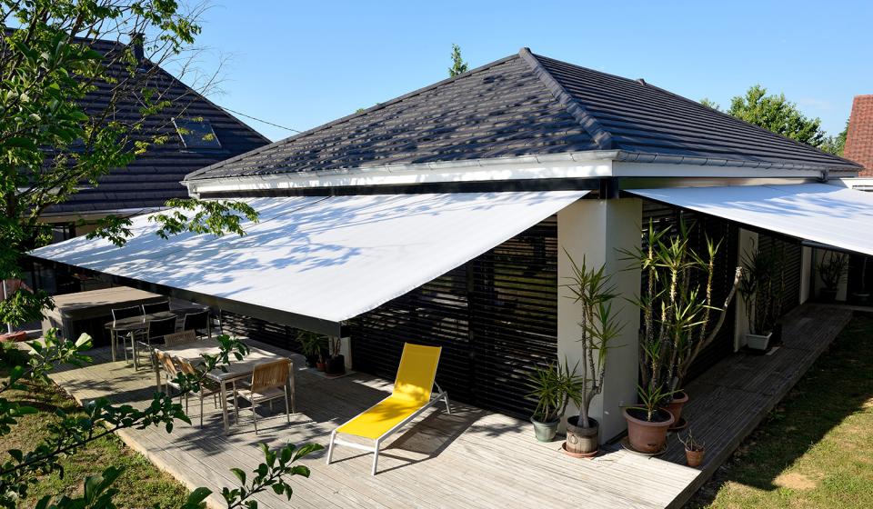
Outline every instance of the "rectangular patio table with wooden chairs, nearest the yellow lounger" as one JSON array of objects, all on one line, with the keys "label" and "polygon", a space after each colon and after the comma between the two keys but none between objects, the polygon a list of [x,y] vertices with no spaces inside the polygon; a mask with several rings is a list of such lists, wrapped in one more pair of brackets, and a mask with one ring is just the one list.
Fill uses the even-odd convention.
[{"label": "rectangular patio table with wooden chairs, nearest the yellow lounger", "polygon": [[[184,359],[191,364],[196,365],[198,361],[203,359],[203,354],[216,355],[219,353],[218,342],[215,339],[201,339],[191,343],[176,344],[176,346],[165,346],[155,348],[154,352],[168,354],[178,359]],[[221,413],[225,424],[225,434],[230,433],[230,419],[227,414],[227,384],[236,382],[237,380],[250,379],[252,372],[255,371],[257,364],[268,363],[286,359],[287,357],[267,352],[260,348],[249,347],[248,354],[240,360],[232,359],[230,364],[226,365],[225,371],[214,369],[206,374],[210,380],[217,382],[221,386]],[[161,387],[161,368],[158,363],[155,365],[155,382],[158,390]],[[288,381],[287,389],[291,397],[291,413],[296,414],[296,397],[295,397],[295,380],[294,380],[294,361],[288,364]],[[203,409],[200,409],[203,412]]]}]

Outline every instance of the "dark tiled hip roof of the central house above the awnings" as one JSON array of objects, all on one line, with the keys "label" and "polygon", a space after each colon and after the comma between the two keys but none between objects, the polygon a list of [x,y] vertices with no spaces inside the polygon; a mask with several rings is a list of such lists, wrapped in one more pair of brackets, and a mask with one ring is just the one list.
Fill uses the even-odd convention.
[{"label": "dark tiled hip roof of the central house above the awnings", "polygon": [[858,169],[643,80],[523,48],[186,180],[593,150],[625,161]]}]

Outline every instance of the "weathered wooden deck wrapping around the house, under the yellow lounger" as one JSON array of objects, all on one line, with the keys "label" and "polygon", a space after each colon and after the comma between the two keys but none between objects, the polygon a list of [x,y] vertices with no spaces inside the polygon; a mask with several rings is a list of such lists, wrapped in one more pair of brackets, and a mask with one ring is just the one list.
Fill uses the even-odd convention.
[{"label": "weathered wooden deck wrapping around the house, under the yellow lounger", "polygon": [[[290,503],[272,492],[258,500],[264,507],[301,508],[679,506],[806,372],[849,317],[848,311],[802,307],[786,328],[785,347],[766,356],[733,355],[688,387],[692,401],[687,415],[695,434],[709,448],[702,470],[684,466],[675,437],[662,459],[608,446],[594,460],[575,460],[559,452],[559,441],[538,444],[526,421],[452,402],[451,415],[436,407],[394,435],[380,454],[376,476],[369,474],[371,455],[338,448],[334,464],[325,464],[324,453],[305,461],[312,476],[293,480]],[[299,355],[249,343],[287,354],[303,365]],[[107,362],[105,349],[93,354],[95,364],[59,369],[53,374],[55,382],[80,402],[105,396],[114,403],[143,405],[150,399],[154,390],[150,370],[134,372],[124,362]],[[190,488],[207,486],[218,492],[236,484],[228,468],[248,471],[261,461],[257,443],[326,445],[337,424],[390,390],[391,384],[366,374],[331,380],[298,368],[299,414],[292,415],[291,424],[277,412],[265,421],[259,419],[263,427],[256,435],[246,411],[235,433],[225,436],[220,413],[207,403],[203,429],[183,424],[172,434],[148,429],[125,430],[120,435]],[[194,402],[191,414],[196,417],[198,412]],[[215,495],[210,502],[225,506]]]}]

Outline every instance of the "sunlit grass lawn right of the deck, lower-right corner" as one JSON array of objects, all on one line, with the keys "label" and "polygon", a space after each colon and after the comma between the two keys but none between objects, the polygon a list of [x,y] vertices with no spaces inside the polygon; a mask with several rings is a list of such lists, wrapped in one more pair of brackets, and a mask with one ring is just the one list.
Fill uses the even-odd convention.
[{"label": "sunlit grass lawn right of the deck, lower-right corner", "polygon": [[873,507],[873,315],[856,315],[688,507]]}]

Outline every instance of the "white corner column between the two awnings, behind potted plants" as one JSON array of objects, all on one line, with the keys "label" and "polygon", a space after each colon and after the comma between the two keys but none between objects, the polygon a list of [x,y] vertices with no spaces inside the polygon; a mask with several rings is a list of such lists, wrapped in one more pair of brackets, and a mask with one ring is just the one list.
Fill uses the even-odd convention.
[{"label": "white corner column between the two awnings, behind potted plants", "polygon": [[[564,250],[577,264],[585,256],[589,266],[606,264],[606,272],[613,274],[612,283],[619,295],[613,302],[613,311],[624,324],[615,344],[622,345],[607,355],[607,374],[603,394],[592,403],[591,415],[600,422],[600,440],[606,441],[622,433],[627,424],[622,407],[636,403],[637,398],[637,348],[639,312],[627,302],[639,294],[640,271],[626,270],[629,262],[619,250],[633,251],[640,245],[642,201],[637,198],[619,200],[580,200],[557,214],[558,284],[566,284],[572,274],[571,265]],[[572,367],[581,359],[579,348],[577,304],[566,297],[567,290],[558,287],[557,303],[557,354],[563,362],[565,356]],[[567,410],[568,415],[578,412]]]}]

